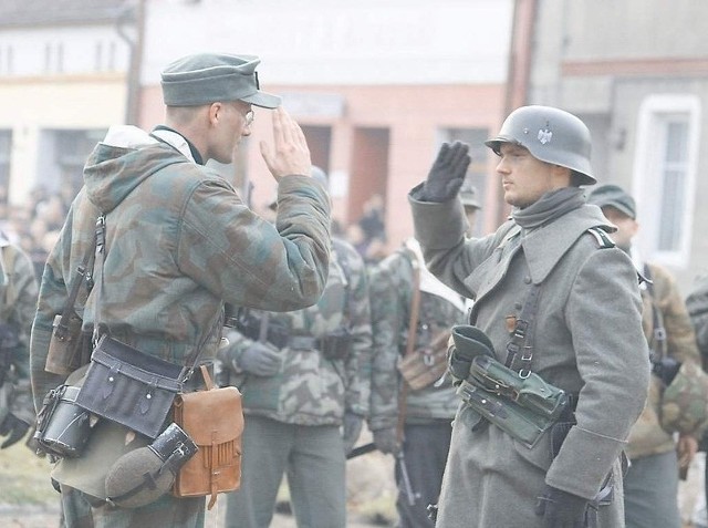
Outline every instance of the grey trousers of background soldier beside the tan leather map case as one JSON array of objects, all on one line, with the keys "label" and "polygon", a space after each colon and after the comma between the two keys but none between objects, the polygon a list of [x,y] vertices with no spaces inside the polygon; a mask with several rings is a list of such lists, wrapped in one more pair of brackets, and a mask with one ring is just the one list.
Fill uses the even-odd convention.
[{"label": "grey trousers of background soldier beside the tan leather map case", "polygon": [[227,495],[227,528],[267,528],[288,477],[299,528],[346,526],[345,458],[336,425],[291,425],[249,415],[241,487]]}]

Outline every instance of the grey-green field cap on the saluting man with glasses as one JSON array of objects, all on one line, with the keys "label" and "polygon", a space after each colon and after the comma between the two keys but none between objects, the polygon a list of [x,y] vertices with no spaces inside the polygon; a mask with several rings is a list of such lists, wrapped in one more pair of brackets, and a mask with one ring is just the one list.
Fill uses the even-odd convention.
[{"label": "grey-green field cap on the saluting man with glasses", "polygon": [[256,55],[198,53],[178,59],[162,73],[167,106],[199,106],[217,101],[243,101],[277,108],[281,99],[259,90]]}]

